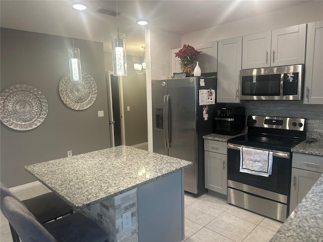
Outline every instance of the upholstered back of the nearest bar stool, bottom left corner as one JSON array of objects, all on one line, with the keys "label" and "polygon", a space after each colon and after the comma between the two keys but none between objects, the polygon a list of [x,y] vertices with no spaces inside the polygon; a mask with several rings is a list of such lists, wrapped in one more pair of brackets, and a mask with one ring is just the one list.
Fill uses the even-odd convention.
[{"label": "upholstered back of the nearest bar stool, bottom left corner", "polygon": [[3,199],[4,215],[22,241],[57,242],[28,209],[13,197]]}]

